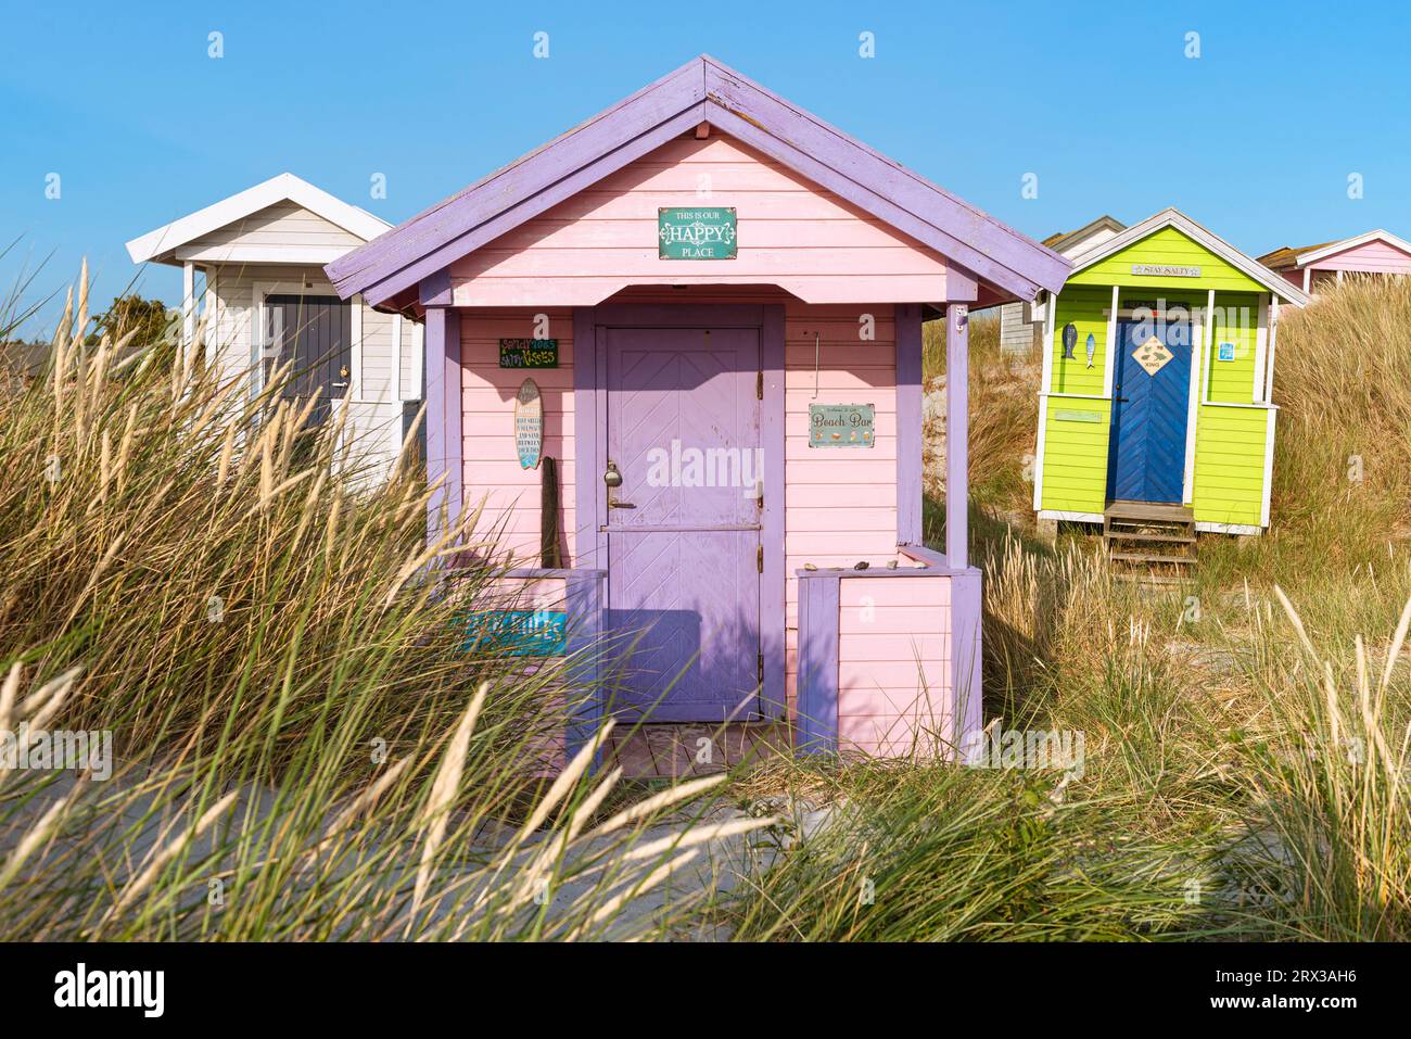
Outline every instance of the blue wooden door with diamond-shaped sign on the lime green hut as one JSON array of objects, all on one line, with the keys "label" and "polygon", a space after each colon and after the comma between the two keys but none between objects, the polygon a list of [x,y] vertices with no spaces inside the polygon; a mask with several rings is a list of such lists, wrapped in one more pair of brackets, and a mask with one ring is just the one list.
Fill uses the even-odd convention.
[{"label": "blue wooden door with diamond-shaped sign on the lime green hut", "polygon": [[1118,322],[1108,501],[1181,504],[1191,401],[1188,322]]}]

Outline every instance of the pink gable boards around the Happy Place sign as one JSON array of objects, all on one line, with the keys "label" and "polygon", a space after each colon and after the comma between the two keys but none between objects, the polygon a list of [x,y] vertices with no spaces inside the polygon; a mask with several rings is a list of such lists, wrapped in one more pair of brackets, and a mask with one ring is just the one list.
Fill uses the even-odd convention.
[{"label": "pink gable boards around the Happy Place sign", "polygon": [[[665,206],[732,208],[737,256],[665,263],[658,250],[658,212]],[[535,298],[587,305],[631,282],[708,280],[769,281],[814,301],[869,294],[913,301],[940,298],[945,263],[763,154],[715,136],[649,152],[456,261],[450,275],[461,305],[531,305]],[[847,281],[852,278],[866,281]],[[533,281],[535,296],[516,280]],[[899,291],[919,295],[893,295]]]}]

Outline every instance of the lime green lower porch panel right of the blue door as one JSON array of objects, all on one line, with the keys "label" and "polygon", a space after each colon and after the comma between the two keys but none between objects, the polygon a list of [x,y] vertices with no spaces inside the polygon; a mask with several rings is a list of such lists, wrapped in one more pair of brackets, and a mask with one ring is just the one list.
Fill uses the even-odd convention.
[{"label": "lime green lower porch panel right of the blue door", "polygon": [[1195,521],[1257,527],[1264,503],[1264,445],[1277,412],[1202,404],[1195,428]]}]

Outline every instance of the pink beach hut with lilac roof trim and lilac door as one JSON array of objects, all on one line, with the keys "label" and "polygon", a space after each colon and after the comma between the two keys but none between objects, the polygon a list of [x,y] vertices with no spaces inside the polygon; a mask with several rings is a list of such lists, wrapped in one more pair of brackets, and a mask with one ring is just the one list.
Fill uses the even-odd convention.
[{"label": "pink beach hut with lilac roof trim and lilac door", "polygon": [[604,713],[873,755],[979,728],[967,316],[1057,291],[1062,257],[701,56],[326,270],[426,323],[429,536],[485,500],[570,652],[631,635],[570,748]]}]

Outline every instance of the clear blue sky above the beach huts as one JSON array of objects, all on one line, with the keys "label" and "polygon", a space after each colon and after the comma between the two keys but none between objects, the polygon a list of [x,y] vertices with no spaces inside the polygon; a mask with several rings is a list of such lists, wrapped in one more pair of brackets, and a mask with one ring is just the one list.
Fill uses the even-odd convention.
[{"label": "clear blue sky above the beach huts", "polygon": [[[123,243],[284,171],[396,223],[700,52],[1036,237],[1167,205],[1253,254],[1373,227],[1411,237],[1401,4],[3,10],[0,246],[18,244],[0,294],[44,261],[30,299],[86,256],[99,305],[134,277],[175,304],[179,271],[138,271]],[[387,199],[370,198],[374,174]],[[61,302],[27,332],[52,329]]]}]

